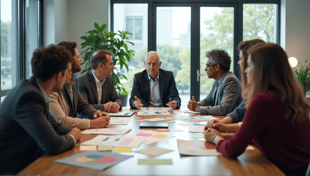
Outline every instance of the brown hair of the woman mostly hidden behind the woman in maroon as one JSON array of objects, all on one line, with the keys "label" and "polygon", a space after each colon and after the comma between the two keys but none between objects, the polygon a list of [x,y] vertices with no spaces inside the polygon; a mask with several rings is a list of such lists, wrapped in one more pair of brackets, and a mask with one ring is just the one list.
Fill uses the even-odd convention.
[{"label": "brown hair of the woman mostly hidden behind the woman in maroon", "polygon": [[243,98],[245,97],[245,92],[246,92],[246,87],[247,87],[247,82],[246,82],[246,73],[244,72],[244,70],[246,69],[246,67],[248,66],[247,64],[247,60],[248,60],[248,53],[247,50],[258,43],[265,43],[263,40],[261,39],[253,39],[253,40],[247,40],[244,42],[240,42],[238,44],[238,55],[240,54],[240,52],[242,52],[243,56],[244,56],[244,61],[242,63],[242,65],[240,64],[240,67],[243,69],[240,69],[240,74],[241,74],[241,82],[242,82],[242,96]]}]

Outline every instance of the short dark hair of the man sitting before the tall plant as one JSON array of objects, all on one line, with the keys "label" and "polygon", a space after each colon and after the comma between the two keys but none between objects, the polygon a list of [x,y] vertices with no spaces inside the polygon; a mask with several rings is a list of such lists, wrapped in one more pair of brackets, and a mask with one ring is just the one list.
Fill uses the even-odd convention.
[{"label": "short dark hair of the man sitting before the tall plant", "polygon": [[110,55],[113,58],[113,53],[107,50],[97,50],[91,55],[90,63],[91,69],[96,70],[98,68],[99,63],[103,63],[104,65],[108,62],[106,55]]}]

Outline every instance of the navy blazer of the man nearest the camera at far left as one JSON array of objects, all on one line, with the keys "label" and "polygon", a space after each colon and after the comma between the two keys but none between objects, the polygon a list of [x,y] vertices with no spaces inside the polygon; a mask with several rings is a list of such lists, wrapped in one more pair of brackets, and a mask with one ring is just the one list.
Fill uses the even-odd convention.
[{"label": "navy blazer of the man nearest the camera at far left", "polygon": [[0,105],[0,175],[18,173],[44,152],[72,148],[71,129],[49,113],[35,78],[22,80]]}]

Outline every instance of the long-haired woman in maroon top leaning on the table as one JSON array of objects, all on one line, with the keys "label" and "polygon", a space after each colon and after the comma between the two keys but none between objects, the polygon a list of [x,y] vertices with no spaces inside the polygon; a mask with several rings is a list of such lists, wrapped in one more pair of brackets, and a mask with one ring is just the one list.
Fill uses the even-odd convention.
[{"label": "long-haired woman in maroon top leaning on the table", "polygon": [[305,175],[310,161],[310,105],[303,97],[286,53],[277,44],[249,49],[248,88],[243,124],[228,140],[214,128],[208,142],[229,158],[241,155],[251,141],[287,175]]}]

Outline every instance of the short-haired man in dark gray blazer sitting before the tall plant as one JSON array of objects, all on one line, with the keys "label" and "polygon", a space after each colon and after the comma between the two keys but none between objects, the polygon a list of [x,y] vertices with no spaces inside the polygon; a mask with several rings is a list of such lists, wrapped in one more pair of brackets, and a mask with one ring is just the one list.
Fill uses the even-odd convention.
[{"label": "short-haired man in dark gray blazer sitting before the tall plant", "polygon": [[91,71],[78,76],[77,81],[81,95],[94,108],[118,112],[122,109],[123,100],[117,94],[111,76],[115,68],[112,56],[109,51],[95,51],[90,59]]}]

